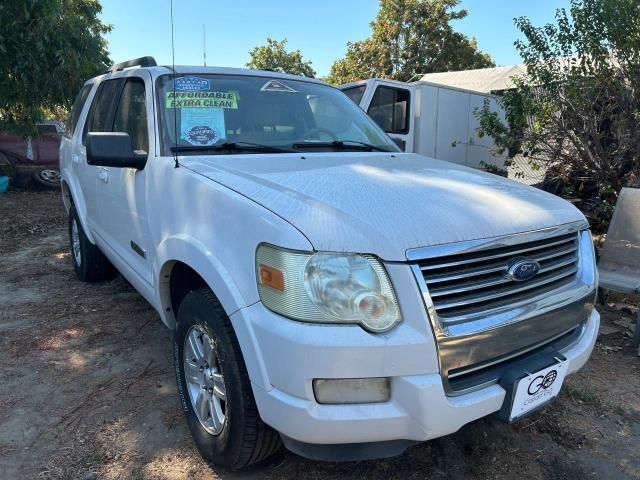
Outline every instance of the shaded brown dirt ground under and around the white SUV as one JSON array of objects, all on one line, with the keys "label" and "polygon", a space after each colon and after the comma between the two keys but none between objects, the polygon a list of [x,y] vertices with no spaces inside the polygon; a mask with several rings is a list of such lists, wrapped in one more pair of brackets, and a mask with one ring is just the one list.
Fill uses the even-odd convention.
[{"label": "shaded brown dirt ground under and around the white SUV", "polygon": [[0,479],[640,478],[637,297],[602,308],[587,366],[520,423],[486,418],[394,459],[282,452],[232,473],[190,439],[158,315],[121,277],[76,280],[57,192],[0,195],[0,260]]}]

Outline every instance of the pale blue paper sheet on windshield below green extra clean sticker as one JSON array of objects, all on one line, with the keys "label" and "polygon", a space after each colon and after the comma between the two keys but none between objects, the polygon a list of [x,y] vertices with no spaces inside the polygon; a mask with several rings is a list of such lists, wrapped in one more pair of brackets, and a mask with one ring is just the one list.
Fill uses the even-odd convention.
[{"label": "pale blue paper sheet on windshield below green extra clean sticker", "polygon": [[183,108],[180,138],[191,145],[207,146],[225,138],[222,108]]}]

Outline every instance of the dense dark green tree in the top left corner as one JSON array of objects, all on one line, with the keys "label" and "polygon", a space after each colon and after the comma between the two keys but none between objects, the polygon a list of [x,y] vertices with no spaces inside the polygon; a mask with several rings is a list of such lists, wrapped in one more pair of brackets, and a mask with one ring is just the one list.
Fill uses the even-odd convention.
[{"label": "dense dark green tree in the top left corner", "polygon": [[34,133],[110,64],[97,0],[0,2],[0,128]]}]

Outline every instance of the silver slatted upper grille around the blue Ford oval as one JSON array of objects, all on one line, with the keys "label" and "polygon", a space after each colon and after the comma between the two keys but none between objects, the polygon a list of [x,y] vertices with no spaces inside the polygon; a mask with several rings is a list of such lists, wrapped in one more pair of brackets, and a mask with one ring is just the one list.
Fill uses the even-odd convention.
[{"label": "silver slatted upper grille around the blue Ford oval", "polygon": [[[530,280],[506,276],[511,262],[536,260],[540,271]],[[498,246],[419,262],[441,323],[453,325],[549,294],[567,285],[578,271],[578,233]]]}]

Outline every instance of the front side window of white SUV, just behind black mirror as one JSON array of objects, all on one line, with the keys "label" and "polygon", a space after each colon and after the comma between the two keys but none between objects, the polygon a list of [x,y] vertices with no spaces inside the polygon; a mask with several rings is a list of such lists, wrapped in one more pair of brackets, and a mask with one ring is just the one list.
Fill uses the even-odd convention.
[{"label": "front side window of white SUV, just behind black mirror", "polygon": [[113,131],[128,133],[134,150],[149,151],[147,104],[141,79],[130,78],[124,84],[113,120]]}]

